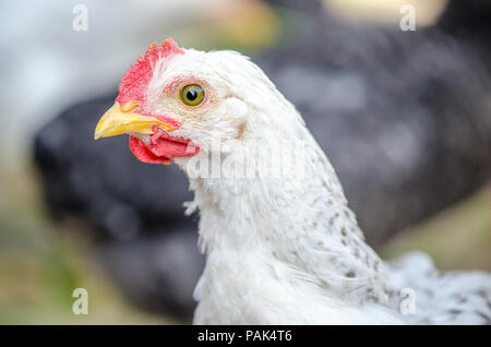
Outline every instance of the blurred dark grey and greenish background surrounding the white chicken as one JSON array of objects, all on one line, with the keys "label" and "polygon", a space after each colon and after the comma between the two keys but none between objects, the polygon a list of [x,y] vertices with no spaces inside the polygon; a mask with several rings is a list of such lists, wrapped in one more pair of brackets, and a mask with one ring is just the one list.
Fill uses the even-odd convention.
[{"label": "blurred dark grey and greenish background surrounding the white chicken", "polygon": [[[402,31],[403,4],[416,31]],[[87,31],[75,31],[76,4]],[[130,63],[172,36],[252,56],[302,112],[369,243],[491,271],[491,1],[0,4],[0,323],[189,323],[203,259],[176,167],[93,141]],[[319,97],[320,91],[322,97]],[[87,315],[72,291],[88,291]]]}]

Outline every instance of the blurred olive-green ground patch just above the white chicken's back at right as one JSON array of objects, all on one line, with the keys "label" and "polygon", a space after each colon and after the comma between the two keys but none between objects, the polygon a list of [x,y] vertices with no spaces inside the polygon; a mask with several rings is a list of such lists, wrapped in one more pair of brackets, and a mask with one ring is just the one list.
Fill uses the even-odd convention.
[{"label": "blurred olive-green ground patch just above the white chicken's back at right", "polygon": [[441,270],[491,271],[491,184],[402,231],[382,255],[393,258],[410,250],[428,252]]}]

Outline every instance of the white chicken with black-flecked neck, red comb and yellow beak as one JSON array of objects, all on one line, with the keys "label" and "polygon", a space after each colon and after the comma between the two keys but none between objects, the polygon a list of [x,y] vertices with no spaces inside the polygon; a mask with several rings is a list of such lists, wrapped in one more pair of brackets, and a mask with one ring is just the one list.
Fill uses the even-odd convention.
[{"label": "white chicken with black-flecked neck, red comb and yellow beak", "polygon": [[489,274],[440,273],[422,253],[385,263],[364,242],[301,116],[248,58],[152,45],[95,137],[124,133],[140,160],[190,178],[206,254],[194,323],[491,323]]}]

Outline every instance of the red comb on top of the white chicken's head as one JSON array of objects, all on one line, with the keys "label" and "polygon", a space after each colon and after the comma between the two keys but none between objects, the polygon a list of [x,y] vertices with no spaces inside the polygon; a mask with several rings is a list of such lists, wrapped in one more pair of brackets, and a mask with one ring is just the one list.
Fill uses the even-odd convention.
[{"label": "red comb on top of the white chicken's head", "polygon": [[152,77],[152,68],[155,62],[161,58],[170,58],[183,53],[184,51],[179,48],[171,37],[166,39],[160,47],[156,43],[152,44],[146,49],[145,56],[141,55],[124,73],[119,84],[119,95],[116,101],[124,105],[128,101],[137,100],[143,105],[146,85]]}]

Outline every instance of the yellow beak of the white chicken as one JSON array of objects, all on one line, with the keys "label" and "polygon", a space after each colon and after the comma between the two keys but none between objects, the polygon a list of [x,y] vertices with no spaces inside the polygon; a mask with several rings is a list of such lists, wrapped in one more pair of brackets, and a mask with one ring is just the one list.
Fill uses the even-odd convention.
[{"label": "yellow beak of the white chicken", "polygon": [[152,127],[159,125],[160,128],[172,131],[176,130],[169,123],[166,123],[155,117],[142,116],[132,112],[139,106],[137,101],[129,101],[124,105],[119,105],[118,101],[109,108],[97,123],[94,137],[109,137],[128,133],[137,133],[144,135],[153,134]]}]

